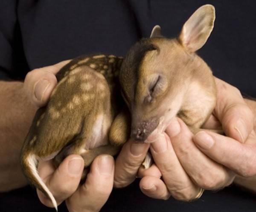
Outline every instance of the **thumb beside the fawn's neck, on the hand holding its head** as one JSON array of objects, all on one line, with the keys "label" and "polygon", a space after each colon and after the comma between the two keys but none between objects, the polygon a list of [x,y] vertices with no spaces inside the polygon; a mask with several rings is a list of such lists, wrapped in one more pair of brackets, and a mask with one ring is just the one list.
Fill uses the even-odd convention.
[{"label": "thumb beside the fawn's neck, on the hand holding its head", "polygon": [[214,115],[220,120],[226,135],[243,143],[253,130],[253,112],[238,89],[215,78],[217,104]]}]

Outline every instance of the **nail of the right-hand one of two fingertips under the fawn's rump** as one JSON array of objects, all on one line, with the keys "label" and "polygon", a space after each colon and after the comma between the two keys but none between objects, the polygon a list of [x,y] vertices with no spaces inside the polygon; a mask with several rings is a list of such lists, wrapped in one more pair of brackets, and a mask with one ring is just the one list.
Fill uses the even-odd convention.
[{"label": "nail of the right-hand one of two fingertips under the fawn's rump", "polygon": [[102,155],[98,160],[99,173],[105,176],[112,175],[114,168],[113,158],[110,155]]}]

